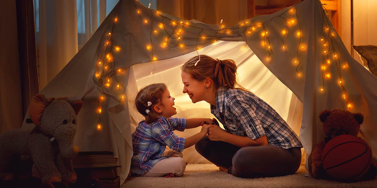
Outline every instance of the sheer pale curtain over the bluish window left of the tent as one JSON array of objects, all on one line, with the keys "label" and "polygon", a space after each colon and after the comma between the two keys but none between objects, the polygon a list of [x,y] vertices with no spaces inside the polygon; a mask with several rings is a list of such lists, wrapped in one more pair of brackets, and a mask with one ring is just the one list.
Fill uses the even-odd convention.
[{"label": "sheer pale curtain over the bluish window left of the tent", "polygon": [[42,90],[86,44],[118,0],[34,0]]}]

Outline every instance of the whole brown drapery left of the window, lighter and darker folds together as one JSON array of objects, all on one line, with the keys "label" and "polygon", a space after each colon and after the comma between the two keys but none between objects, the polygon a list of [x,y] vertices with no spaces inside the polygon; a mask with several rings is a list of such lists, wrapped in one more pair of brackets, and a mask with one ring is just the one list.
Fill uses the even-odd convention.
[{"label": "whole brown drapery left of the window, lighter and darker folds together", "polygon": [[0,133],[20,128],[31,97],[39,92],[32,0],[0,7]]}]

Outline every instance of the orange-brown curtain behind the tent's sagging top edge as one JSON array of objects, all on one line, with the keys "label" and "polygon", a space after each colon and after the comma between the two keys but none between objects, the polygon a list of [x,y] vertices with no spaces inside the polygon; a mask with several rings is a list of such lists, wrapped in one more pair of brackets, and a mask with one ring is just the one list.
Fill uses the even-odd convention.
[{"label": "orange-brown curtain behind the tent's sagging top edge", "polygon": [[234,26],[247,19],[246,0],[158,0],[158,11],[185,20],[199,20],[207,24]]}]

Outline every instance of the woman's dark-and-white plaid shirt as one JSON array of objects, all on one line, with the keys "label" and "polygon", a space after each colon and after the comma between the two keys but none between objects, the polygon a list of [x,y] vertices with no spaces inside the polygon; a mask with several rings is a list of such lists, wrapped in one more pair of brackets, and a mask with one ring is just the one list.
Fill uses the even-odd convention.
[{"label": "woman's dark-and-white plaid shirt", "polygon": [[268,145],[285,149],[302,147],[287,122],[254,93],[220,87],[216,93],[216,106],[211,105],[211,113],[230,134],[248,136],[253,140],[266,135]]}]

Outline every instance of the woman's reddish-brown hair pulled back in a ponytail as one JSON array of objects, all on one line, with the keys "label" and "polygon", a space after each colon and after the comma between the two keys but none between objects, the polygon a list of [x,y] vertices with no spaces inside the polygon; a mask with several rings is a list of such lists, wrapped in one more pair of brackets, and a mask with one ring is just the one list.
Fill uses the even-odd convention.
[{"label": "woman's reddish-brown hair pulled back in a ponytail", "polygon": [[[225,89],[240,89],[248,91],[240,86],[236,80],[237,66],[233,60],[219,60],[208,55],[195,56],[182,66],[182,71],[189,73],[194,79],[203,81],[211,78],[215,84],[215,89],[225,87]],[[237,87],[236,87],[237,86]]]}]

